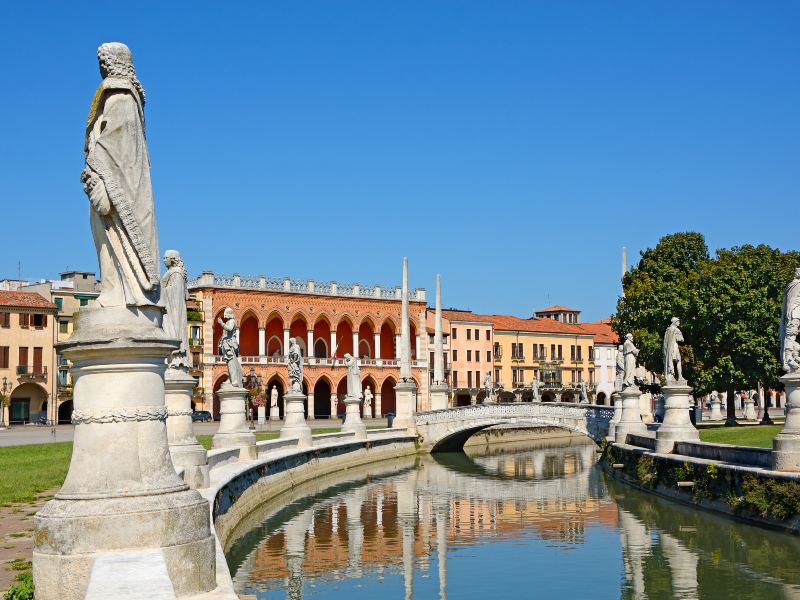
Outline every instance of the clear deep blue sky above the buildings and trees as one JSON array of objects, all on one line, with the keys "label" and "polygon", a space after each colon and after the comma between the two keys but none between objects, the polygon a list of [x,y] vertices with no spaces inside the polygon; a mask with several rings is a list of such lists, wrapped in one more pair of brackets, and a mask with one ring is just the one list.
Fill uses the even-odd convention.
[{"label": "clear deep blue sky above the buildings and trees", "polygon": [[623,245],[800,246],[796,2],[167,4],[0,8],[0,277],[97,268],[78,177],[114,40],[193,274],[393,284],[407,254],[446,306],[595,319]]}]

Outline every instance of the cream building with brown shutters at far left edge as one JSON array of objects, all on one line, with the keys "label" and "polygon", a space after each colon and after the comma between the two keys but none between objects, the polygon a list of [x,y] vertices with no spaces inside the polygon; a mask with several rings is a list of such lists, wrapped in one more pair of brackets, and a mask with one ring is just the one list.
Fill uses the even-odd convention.
[{"label": "cream building with brown shutters at far left edge", "polygon": [[58,308],[35,292],[0,291],[0,392],[3,419],[56,418],[55,351]]}]

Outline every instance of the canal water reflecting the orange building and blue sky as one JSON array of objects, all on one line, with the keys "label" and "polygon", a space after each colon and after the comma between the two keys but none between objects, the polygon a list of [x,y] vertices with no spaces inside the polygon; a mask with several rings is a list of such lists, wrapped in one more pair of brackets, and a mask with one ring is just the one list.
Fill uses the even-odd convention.
[{"label": "canal water reflecting the orange building and blue sky", "polygon": [[800,599],[800,540],[622,486],[548,440],[320,478],[243,521],[245,597]]}]

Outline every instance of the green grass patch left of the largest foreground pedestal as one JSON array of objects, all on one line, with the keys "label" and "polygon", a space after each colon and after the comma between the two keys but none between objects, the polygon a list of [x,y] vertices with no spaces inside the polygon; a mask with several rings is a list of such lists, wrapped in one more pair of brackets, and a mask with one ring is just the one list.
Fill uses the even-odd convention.
[{"label": "green grass patch left of the largest foreground pedestal", "polygon": [[33,502],[60,487],[69,468],[72,442],[0,448],[0,506]]}]

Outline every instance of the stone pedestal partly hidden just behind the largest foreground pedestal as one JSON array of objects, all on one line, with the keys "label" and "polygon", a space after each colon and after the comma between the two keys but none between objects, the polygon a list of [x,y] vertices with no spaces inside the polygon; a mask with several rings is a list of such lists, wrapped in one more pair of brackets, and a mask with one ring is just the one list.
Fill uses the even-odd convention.
[{"label": "stone pedestal partly hidden just behind the largest foreground pedestal", "polygon": [[194,489],[209,486],[206,449],[192,429],[192,390],[195,380],[178,369],[167,369],[164,376],[167,405],[167,440],[172,464],[183,468],[183,480]]}]

